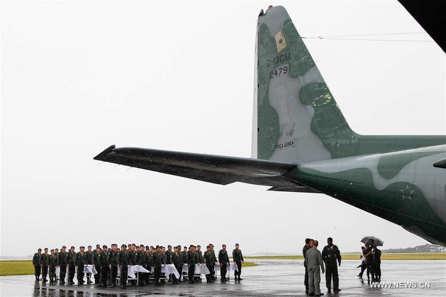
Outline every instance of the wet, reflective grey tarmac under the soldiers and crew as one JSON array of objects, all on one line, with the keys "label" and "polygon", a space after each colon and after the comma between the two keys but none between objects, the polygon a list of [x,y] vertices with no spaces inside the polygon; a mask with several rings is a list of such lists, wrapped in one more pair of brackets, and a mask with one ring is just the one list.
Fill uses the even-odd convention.
[{"label": "wet, reflective grey tarmac under the soldiers and crew", "polygon": [[[105,289],[95,285],[35,285],[34,276],[0,277],[0,295],[33,297],[143,297],[143,296],[306,296],[303,260],[257,260],[259,266],[242,270],[243,281],[235,282],[231,275],[229,283],[215,282],[173,286],[120,287]],[[446,296],[446,261],[411,260],[382,261],[382,281],[395,282],[391,288],[372,288],[367,277],[364,280],[356,275],[359,269],[357,260],[344,260],[339,267],[339,293],[328,293],[325,277],[321,275],[320,288],[324,296]],[[402,283],[400,283],[402,282]],[[406,284],[404,284],[404,282]],[[420,286],[421,283],[421,286]],[[429,284],[430,288],[426,287]],[[416,287],[416,288],[414,288]]]}]

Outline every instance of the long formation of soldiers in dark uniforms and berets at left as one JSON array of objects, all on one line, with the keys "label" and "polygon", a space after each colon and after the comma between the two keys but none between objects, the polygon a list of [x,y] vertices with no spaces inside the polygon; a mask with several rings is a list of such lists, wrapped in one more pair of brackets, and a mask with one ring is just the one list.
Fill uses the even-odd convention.
[{"label": "long formation of soldiers in dark uniforms and berets at left", "polygon": [[[243,280],[240,278],[242,271],[242,262],[244,261],[242,251],[239,249],[237,243],[236,248],[233,250],[233,261],[237,265],[238,271],[234,272],[236,280]],[[209,243],[206,246],[204,253],[201,251],[200,245],[191,244],[188,247],[184,246],[181,251],[181,245],[172,247],[170,244],[167,246],[167,250],[164,246],[139,246],[133,244],[122,244],[121,249],[118,249],[118,245],[113,243],[111,248],[107,245],[96,245],[96,249],[92,250],[92,246],[87,247],[85,251],[84,246],[79,247],[79,251],[76,253],[74,246],[66,251],[66,246],[63,246],[61,251],[58,249],[52,249],[50,254],[48,248],[39,248],[38,252],[34,254],[33,266],[36,282],[40,281],[40,275],[42,273],[42,282],[46,283],[47,275],[49,271],[50,284],[55,284],[58,281],[56,275],[56,269],[60,268],[59,284],[65,284],[66,270],[68,270],[68,285],[74,285],[74,274],[77,269],[77,283],[79,285],[84,283],[84,267],[85,265],[93,265],[97,274],[94,275],[94,283],[101,284],[102,287],[111,285],[117,286],[118,268],[121,271],[120,284],[122,287],[127,287],[127,283],[136,284],[135,280],[127,281],[127,266],[140,265],[148,271],[153,268],[153,281],[155,285],[160,285],[161,267],[166,264],[173,264],[180,274],[178,279],[175,274],[169,275],[168,282],[176,285],[182,281],[189,281],[194,283],[200,281],[199,277],[194,277],[195,264],[205,264],[209,270],[209,274],[206,274],[207,283],[214,282],[216,280],[214,273],[214,265],[220,263],[220,276],[221,281],[226,282],[229,278],[226,277],[227,267],[230,265],[229,255],[226,251],[226,245],[222,245],[222,249],[218,252],[218,259],[215,255],[214,245]],[[218,261],[218,262],[217,262]],[[188,276],[184,277],[183,264],[188,265]],[[91,284],[91,275],[87,273],[87,284]],[[167,278],[167,276],[166,276]],[[138,272],[138,285],[144,286],[150,284],[150,274]]]}]

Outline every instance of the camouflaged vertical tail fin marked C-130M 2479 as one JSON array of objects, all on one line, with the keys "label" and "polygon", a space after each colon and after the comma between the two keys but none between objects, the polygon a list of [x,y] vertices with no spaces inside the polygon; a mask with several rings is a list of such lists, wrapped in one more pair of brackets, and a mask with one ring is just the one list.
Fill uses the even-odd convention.
[{"label": "camouflaged vertical tail fin marked C-130M 2479", "polygon": [[303,163],[358,142],[282,6],[258,16],[252,157]]}]

